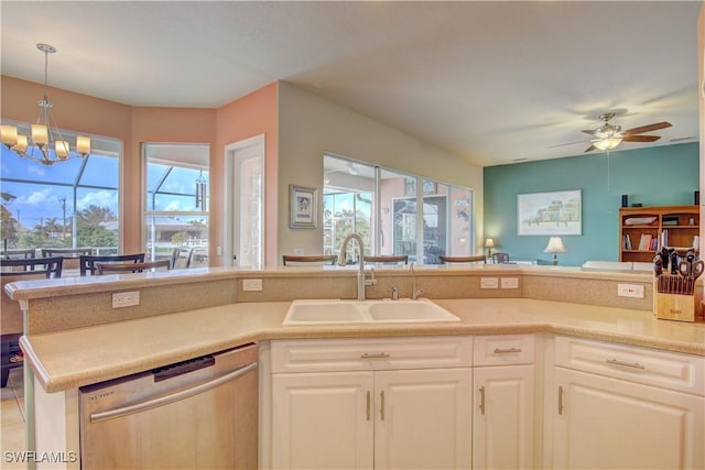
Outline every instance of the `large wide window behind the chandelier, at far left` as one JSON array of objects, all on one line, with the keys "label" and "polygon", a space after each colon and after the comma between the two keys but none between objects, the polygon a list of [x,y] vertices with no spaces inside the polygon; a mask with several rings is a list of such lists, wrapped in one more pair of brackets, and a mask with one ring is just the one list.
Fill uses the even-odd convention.
[{"label": "large wide window behind the chandelier, at far left", "polygon": [[[19,132],[30,124],[12,122]],[[61,131],[65,138],[76,133]],[[44,166],[2,146],[2,249],[120,247],[122,143],[91,135],[90,154]],[[52,152],[53,153],[53,152]]]}]

